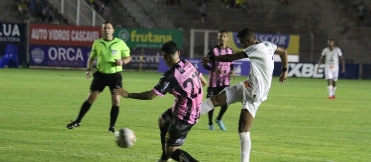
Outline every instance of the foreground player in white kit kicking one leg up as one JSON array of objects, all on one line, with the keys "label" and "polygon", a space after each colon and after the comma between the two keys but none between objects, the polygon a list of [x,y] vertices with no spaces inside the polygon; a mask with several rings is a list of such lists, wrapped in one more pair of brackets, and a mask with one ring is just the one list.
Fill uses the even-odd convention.
[{"label": "foreground player in white kit kicking one leg up", "polygon": [[202,102],[201,114],[214,109],[216,106],[242,102],[238,127],[241,142],[241,162],[249,162],[251,150],[250,126],[260,103],[268,97],[274,68],[273,54],[279,54],[282,60],[282,74],[279,77],[279,81],[282,84],[286,82],[288,58],[286,49],[270,42],[259,42],[255,33],[249,28],[242,29],[237,34],[237,37],[241,42],[241,46],[245,48],[242,52],[202,57],[201,62],[203,64],[214,60],[232,62],[249,57],[251,60],[249,77],[247,80],[227,87],[218,95]]}]

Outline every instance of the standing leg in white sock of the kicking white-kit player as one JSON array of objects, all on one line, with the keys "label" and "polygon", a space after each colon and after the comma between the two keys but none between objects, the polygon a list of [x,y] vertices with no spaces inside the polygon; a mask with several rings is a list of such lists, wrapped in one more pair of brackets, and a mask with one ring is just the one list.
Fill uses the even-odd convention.
[{"label": "standing leg in white sock of the kicking white-kit player", "polygon": [[251,139],[250,139],[250,126],[254,117],[247,109],[242,109],[238,125],[238,132],[241,142],[241,162],[249,162]]}]

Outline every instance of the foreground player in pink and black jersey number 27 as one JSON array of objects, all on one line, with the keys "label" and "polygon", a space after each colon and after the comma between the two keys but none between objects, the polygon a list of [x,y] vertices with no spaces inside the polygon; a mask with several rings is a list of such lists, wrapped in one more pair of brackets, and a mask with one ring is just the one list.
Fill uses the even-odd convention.
[{"label": "foreground player in pink and black jersey number 27", "polygon": [[173,94],[175,96],[173,107],[167,109],[158,119],[162,144],[162,156],[158,162],[167,162],[169,157],[175,161],[198,162],[181,150],[180,146],[185,142],[188,131],[200,118],[202,86],[206,85],[206,79],[192,63],[179,58],[180,51],[173,41],[165,43],[161,52],[170,69],[162,75],[152,90],[128,93],[117,87],[115,92],[125,98],[140,100],[154,99],[157,95],[162,97],[167,92]]}]

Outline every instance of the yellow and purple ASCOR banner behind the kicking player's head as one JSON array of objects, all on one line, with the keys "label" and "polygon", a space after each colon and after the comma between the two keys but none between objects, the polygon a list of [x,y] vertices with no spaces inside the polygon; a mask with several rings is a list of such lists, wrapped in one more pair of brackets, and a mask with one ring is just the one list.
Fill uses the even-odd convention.
[{"label": "yellow and purple ASCOR banner behind the kicking player's head", "polygon": [[[299,35],[281,35],[281,34],[260,34],[255,33],[259,41],[269,41],[277,46],[287,49],[288,54],[299,54]],[[237,38],[237,32],[228,32],[227,46],[232,48],[234,52],[242,51],[241,43]]]}]

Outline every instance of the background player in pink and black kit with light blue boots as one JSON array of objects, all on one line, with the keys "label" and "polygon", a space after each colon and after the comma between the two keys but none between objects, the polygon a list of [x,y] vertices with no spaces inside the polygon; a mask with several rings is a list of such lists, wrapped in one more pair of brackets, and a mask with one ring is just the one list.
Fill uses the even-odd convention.
[{"label": "background player in pink and black kit with light blue boots", "polygon": [[[227,47],[228,33],[226,30],[220,30],[218,32],[217,38],[218,44],[214,47],[211,47],[207,56],[220,56],[224,54],[232,54],[233,50]],[[207,98],[214,96],[221,92],[224,88],[229,87],[230,75],[233,79],[236,79],[236,75],[233,70],[233,62],[219,62],[214,61],[210,62],[207,65],[204,65],[204,69],[209,70],[209,83],[207,85]],[[215,119],[215,122],[218,123],[221,130],[227,130],[223,124],[221,117],[226,112],[228,106],[220,106],[220,112],[218,117]],[[214,130],[213,125],[213,113],[214,109],[209,111],[209,129]]]}]

